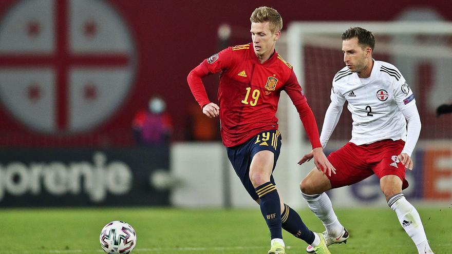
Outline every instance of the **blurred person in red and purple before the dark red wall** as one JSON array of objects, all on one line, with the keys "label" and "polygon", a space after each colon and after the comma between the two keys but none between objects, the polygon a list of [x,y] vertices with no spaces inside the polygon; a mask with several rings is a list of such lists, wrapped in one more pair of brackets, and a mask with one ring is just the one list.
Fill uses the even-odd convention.
[{"label": "blurred person in red and purple before the dark red wall", "polygon": [[153,96],[149,99],[148,108],[135,114],[132,127],[139,146],[168,145],[173,124],[165,110],[166,103],[162,97]]}]

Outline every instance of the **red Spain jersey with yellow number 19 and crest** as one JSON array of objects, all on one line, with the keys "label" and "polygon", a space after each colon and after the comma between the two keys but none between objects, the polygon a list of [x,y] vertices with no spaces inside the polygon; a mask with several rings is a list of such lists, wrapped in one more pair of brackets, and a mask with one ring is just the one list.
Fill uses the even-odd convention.
[{"label": "red Spain jersey with yellow number 19 and crest", "polygon": [[[295,106],[306,104],[292,66],[276,51],[261,64],[251,43],[229,47],[197,68],[202,73],[221,72],[218,101],[221,137],[227,147],[242,144],[259,132],[278,128],[275,114],[281,90],[287,92]],[[191,88],[201,107],[210,103],[203,87],[194,90],[191,85]],[[318,136],[318,130],[315,131]]]}]

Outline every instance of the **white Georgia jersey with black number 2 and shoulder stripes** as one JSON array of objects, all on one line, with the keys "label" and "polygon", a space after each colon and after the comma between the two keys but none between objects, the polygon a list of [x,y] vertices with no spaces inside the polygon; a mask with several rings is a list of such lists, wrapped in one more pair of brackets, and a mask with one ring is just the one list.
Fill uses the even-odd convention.
[{"label": "white Georgia jersey with black number 2 and shoulder stripes", "polygon": [[395,66],[374,61],[367,79],[360,79],[344,67],[334,76],[331,102],[342,107],[345,101],[353,119],[350,142],[363,145],[385,139],[406,141],[406,120],[401,110],[415,106],[416,100]]}]

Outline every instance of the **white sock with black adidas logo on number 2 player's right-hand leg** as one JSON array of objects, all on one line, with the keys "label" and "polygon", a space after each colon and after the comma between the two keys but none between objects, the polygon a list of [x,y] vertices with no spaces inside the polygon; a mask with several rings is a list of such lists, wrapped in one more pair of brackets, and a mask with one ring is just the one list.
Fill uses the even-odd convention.
[{"label": "white sock with black adidas logo on number 2 player's right-hand leg", "polygon": [[408,236],[416,244],[419,253],[431,251],[430,246],[428,246],[427,237],[425,236],[424,226],[422,226],[421,217],[416,208],[405,199],[404,194],[399,193],[394,195],[389,199],[388,205],[396,212],[400,225],[402,225]]}]

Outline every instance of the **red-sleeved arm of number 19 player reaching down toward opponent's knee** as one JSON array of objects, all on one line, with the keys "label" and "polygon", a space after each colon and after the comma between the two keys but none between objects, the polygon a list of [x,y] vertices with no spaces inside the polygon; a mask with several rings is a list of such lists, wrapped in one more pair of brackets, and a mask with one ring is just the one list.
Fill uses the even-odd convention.
[{"label": "red-sleeved arm of number 19 player reaching down toward opponent's knee", "polygon": [[[306,97],[303,93],[302,87],[298,84],[296,80],[295,73],[292,70],[291,78],[289,79],[287,85],[284,89],[289,95],[292,103],[298,111],[300,120],[303,123],[308,139],[312,146],[312,157],[314,158],[314,164],[318,170],[323,171],[325,174],[331,175],[331,173],[336,173],[335,168],[325,156],[323,152],[322,145],[318,136],[318,127],[315,121],[314,113],[309,107]],[[303,160],[303,159],[302,159]],[[301,160],[300,160],[301,161]],[[302,164],[298,162],[298,164]]]}]

